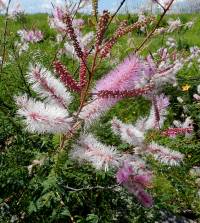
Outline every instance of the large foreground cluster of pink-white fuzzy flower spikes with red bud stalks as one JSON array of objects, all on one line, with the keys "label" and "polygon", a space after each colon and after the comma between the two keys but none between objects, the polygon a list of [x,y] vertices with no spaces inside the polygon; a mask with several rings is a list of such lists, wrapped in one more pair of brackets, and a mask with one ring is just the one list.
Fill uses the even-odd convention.
[{"label": "large foreground cluster of pink-white fuzzy flower spikes with red bud stalks", "polygon": [[[154,2],[160,4],[164,12],[172,3]],[[134,194],[145,207],[151,207],[153,199],[147,189],[152,186],[153,173],[147,167],[146,160],[151,156],[164,165],[177,166],[183,161],[184,155],[155,141],[147,140],[146,135],[152,129],[160,132],[161,136],[169,137],[178,134],[187,136],[192,133],[193,125],[190,118],[184,122],[174,121],[172,127],[161,130],[170,104],[169,98],[162,90],[166,84],[177,84],[177,73],[184,64],[198,58],[200,51],[197,48],[191,49],[191,54],[183,57],[176,51],[176,41],[168,38],[166,47],[147,57],[141,57],[137,53],[130,54],[93,85],[99,64],[107,59],[118,39],[134,30],[145,30],[155,21],[154,17],[141,14],[138,21],[133,24],[121,22],[113,35],[105,39],[106,30],[113,18],[108,11],[104,11],[98,18],[97,3],[98,1],[92,1],[97,19],[96,35],[92,32],[82,32],[84,21],[76,17],[76,12],[82,5],[78,5],[78,8],[55,7],[53,17],[50,18],[50,26],[58,32],[58,42],[64,45],[62,53],[76,59],[79,66],[72,73],[71,68],[68,69],[57,57],[48,70],[40,64],[31,65],[27,81],[41,100],[29,98],[27,95],[16,97],[19,106],[17,113],[24,117],[27,130],[32,133],[61,133],[62,149],[65,147],[66,139],[73,138],[72,149],[69,151],[70,158],[80,163],[88,162],[98,170],[112,169],[118,184]],[[192,23],[187,24],[187,27],[191,26]],[[152,35],[170,33],[180,27],[180,20],[169,21],[168,29],[158,28]],[[42,32],[38,30],[20,30],[18,34],[21,42],[36,43],[43,39]],[[88,46],[91,43],[90,49]],[[59,78],[49,71],[51,68],[54,68],[55,75]],[[72,102],[69,91],[80,99],[78,109],[72,112],[68,109]],[[89,127],[120,100],[137,96],[145,97],[151,103],[147,117],[140,118],[134,124],[123,123],[117,118],[111,121],[113,133],[130,145],[129,151],[122,152],[117,146],[99,142]],[[200,98],[199,95],[194,97]],[[40,162],[34,165],[36,164],[40,165]]]}]

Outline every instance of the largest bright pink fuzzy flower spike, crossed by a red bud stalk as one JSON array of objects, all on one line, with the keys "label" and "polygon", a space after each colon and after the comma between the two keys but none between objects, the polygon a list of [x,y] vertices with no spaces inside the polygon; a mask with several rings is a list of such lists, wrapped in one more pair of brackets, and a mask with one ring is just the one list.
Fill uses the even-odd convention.
[{"label": "largest bright pink fuzzy flower spike, crossed by a red bud stalk", "polygon": [[[96,94],[103,90],[132,90],[140,77],[141,70],[142,63],[140,59],[135,55],[129,56],[113,71],[97,82],[96,87],[93,89],[93,93]],[[101,99],[94,96],[91,103],[83,108],[80,113],[80,118],[84,119],[86,124],[90,124],[104,112],[108,111],[119,100],[118,98]]]}]

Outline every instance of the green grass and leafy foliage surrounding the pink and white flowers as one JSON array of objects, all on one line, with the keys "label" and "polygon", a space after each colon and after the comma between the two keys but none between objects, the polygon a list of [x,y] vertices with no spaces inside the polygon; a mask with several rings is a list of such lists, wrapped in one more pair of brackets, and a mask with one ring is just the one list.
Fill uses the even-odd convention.
[{"label": "green grass and leafy foliage surrounding the pink and white flowers", "polygon": [[[81,15],[80,15],[81,16]],[[199,15],[173,15],[180,17],[183,22],[194,20],[191,30],[181,30],[173,34],[178,41],[178,47],[184,54],[189,53],[191,46],[200,47],[200,17]],[[91,20],[83,16],[89,30],[94,30]],[[130,23],[136,20],[134,15],[121,15],[111,25],[107,36],[112,35],[116,24],[120,20],[128,19]],[[166,25],[165,18],[163,25]],[[48,26],[47,15],[28,15],[19,21],[9,21],[9,38],[7,41],[6,60],[13,57],[13,42],[19,40],[17,30],[25,28],[41,29],[45,38],[41,43],[32,44],[28,52],[11,62],[4,68],[0,76],[0,222],[155,222],[160,218],[160,211],[167,210],[174,215],[185,216],[195,221],[200,220],[200,202],[198,185],[195,177],[189,174],[193,166],[200,165],[200,106],[195,104],[192,95],[200,84],[200,72],[194,65],[190,69],[183,69],[178,74],[177,87],[166,86],[165,93],[170,97],[171,108],[166,126],[170,126],[174,119],[181,119],[182,106],[176,97],[184,98],[188,114],[195,121],[195,134],[192,138],[177,137],[169,139],[161,137],[158,132],[149,133],[150,140],[156,140],[174,150],[185,154],[184,163],[177,168],[160,165],[149,159],[155,172],[152,194],[155,197],[155,206],[144,209],[135,198],[120,189],[87,189],[71,191],[68,187],[87,188],[101,185],[110,187],[115,185],[112,171],[108,173],[96,172],[89,165],[79,166],[67,158],[67,150],[56,154],[59,136],[27,134],[23,130],[21,121],[16,117],[16,106],[13,100],[15,95],[27,92],[29,87],[24,85],[24,76],[30,63],[39,61],[48,66],[54,57],[57,45],[54,44],[56,33]],[[0,17],[0,37],[3,39],[4,18]],[[134,49],[130,45],[139,45],[144,38],[142,32],[135,31],[128,37],[122,38],[112,51],[112,58],[121,61]],[[153,38],[148,44],[146,55],[154,52],[166,41],[167,36]],[[62,56],[62,61],[71,71],[76,64],[70,58]],[[110,60],[103,62],[95,78],[112,69]],[[191,85],[189,92],[183,92],[181,86]],[[30,92],[34,95],[33,92]],[[71,110],[77,107],[77,101]],[[122,143],[110,130],[109,120],[113,116],[124,122],[135,122],[138,117],[149,112],[148,101],[137,98],[127,99],[118,103],[109,113],[103,116],[100,123],[91,129],[104,143],[112,144],[119,150],[129,149],[129,145]],[[69,148],[72,142],[69,142]],[[31,175],[27,166],[34,159],[40,159],[48,154],[42,167],[36,167]],[[160,220],[162,222],[162,220]]]}]

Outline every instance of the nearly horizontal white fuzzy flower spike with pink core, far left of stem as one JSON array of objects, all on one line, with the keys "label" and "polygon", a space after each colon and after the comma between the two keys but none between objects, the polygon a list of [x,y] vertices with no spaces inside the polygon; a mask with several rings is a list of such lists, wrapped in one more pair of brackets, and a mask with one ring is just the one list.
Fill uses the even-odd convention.
[{"label": "nearly horizontal white fuzzy flower spike with pink core, far left of stem", "polygon": [[73,119],[66,109],[35,101],[26,95],[16,97],[19,106],[18,115],[25,118],[27,130],[38,133],[66,133]]}]

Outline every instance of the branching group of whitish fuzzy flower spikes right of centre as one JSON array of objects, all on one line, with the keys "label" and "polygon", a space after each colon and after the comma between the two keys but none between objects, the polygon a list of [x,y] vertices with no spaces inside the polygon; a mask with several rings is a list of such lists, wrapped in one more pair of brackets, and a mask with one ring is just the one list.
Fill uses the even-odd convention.
[{"label": "branching group of whitish fuzzy flower spikes right of centre", "polygon": [[150,154],[153,155],[158,161],[168,165],[178,165],[182,161],[183,155],[179,152],[173,152],[168,148],[151,143],[148,145],[145,142],[145,133],[149,129],[155,129],[156,127],[162,127],[166,108],[168,106],[167,98],[163,96],[156,99],[158,103],[160,120],[157,120],[157,114],[154,106],[152,106],[149,117],[143,118],[136,122],[135,125],[124,124],[118,119],[113,119],[112,129],[120,136],[120,138],[135,147],[135,153],[137,154]]}]

